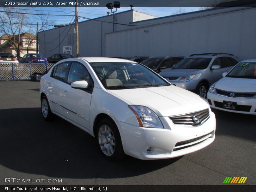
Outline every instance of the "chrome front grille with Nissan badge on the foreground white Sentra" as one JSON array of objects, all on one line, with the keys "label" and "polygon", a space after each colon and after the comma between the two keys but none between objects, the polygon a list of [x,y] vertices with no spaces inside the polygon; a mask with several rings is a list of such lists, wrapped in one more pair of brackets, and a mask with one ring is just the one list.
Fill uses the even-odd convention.
[{"label": "chrome front grille with Nissan badge on the foreground white Sentra", "polygon": [[210,116],[209,109],[204,109],[201,111],[196,111],[193,113],[188,113],[178,116],[170,116],[170,119],[174,124],[184,124],[196,126],[204,122]]}]

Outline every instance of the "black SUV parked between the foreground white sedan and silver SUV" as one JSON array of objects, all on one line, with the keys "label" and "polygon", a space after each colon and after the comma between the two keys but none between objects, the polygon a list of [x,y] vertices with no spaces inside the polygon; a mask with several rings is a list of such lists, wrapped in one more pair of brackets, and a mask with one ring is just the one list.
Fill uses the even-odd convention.
[{"label": "black SUV parked between the foreground white sedan and silver SUV", "polygon": [[172,68],[182,59],[184,59],[183,56],[149,57],[142,61],[141,64],[151,68],[156,73],[160,73],[165,69]]}]

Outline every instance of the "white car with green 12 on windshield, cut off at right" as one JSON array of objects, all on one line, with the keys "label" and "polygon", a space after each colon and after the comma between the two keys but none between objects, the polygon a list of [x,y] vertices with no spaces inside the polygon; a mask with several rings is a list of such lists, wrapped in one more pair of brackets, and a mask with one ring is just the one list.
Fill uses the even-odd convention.
[{"label": "white car with green 12 on windshield, cut off at right", "polygon": [[241,61],[223,76],[207,93],[211,107],[256,115],[256,59]]}]

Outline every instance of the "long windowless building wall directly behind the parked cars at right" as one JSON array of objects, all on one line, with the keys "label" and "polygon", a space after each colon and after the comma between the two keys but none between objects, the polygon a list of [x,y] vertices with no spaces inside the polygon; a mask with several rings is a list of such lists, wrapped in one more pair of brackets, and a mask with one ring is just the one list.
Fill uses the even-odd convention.
[{"label": "long windowless building wall directly behind the parked cars at right", "polygon": [[204,15],[170,17],[169,22],[164,18],[164,24],[159,24],[161,19],[135,22],[143,26],[148,22],[158,24],[106,34],[107,56],[228,52],[239,60],[256,58],[256,8],[240,9],[225,8],[203,12]]}]

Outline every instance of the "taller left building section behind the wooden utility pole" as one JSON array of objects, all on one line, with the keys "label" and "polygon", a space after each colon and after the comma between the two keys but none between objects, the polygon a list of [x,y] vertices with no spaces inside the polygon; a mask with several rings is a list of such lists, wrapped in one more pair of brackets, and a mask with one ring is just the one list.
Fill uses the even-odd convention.
[{"label": "taller left building section behind the wooden utility pole", "polygon": [[[115,24],[115,31],[134,28],[134,26],[127,25],[133,21],[137,21],[139,18],[155,18],[145,13],[136,12],[135,15],[137,15],[137,19],[134,20],[134,12],[134,10],[129,10],[115,14],[115,23],[126,24]],[[78,24],[79,54],[81,57],[106,56],[105,34],[113,32],[113,15],[96,19],[97,20],[79,22]],[[63,46],[72,45],[72,54],[75,56],[76,36],[74,28],[75,25],[69,25],[40,32],[38,35],[39,52],[46,57],[50,57],[55,53],[62,53]],[[68,44],[68,35],[74,36],[74,44]]]}]

